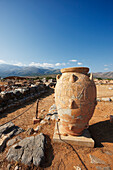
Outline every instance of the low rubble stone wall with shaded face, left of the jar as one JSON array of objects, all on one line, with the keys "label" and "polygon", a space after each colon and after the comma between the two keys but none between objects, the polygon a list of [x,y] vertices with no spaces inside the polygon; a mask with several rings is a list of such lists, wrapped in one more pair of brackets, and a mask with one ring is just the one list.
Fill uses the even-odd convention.
[{"label": "low rubble stone wall with shaded face, left of the jar", "polygon": [[15,88],[11,91],[2,91],[0,93],[0,112],[38,98],[48,88],[45,84],[39,83],[38,85],[32,84],[28,87]]}]

